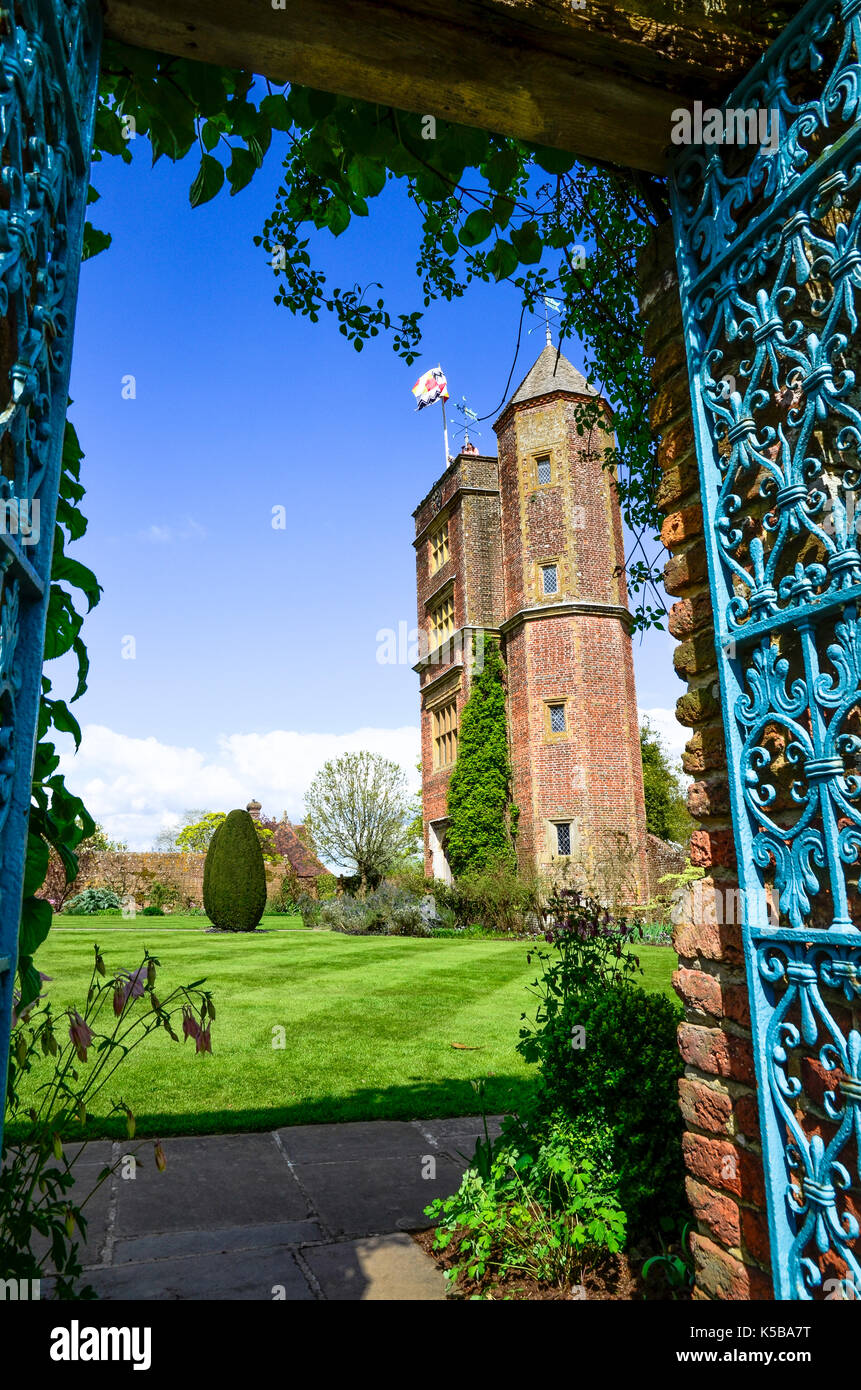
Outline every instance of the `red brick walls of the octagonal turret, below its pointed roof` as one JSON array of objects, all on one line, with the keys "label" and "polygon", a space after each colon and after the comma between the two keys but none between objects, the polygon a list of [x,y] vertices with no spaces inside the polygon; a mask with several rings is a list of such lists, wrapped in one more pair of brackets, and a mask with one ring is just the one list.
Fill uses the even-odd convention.
[{"label": "red brick walls of the octagonal turret, below its pointed roof", "polygon": [[[509,406],[497,424],[505,563],[505,609],[590,600],[626,606],[622,518],[602,467],[605,430],[579,432],[577,400],[555,392]],[[549,453],[554,484],[534,485],[534,457]],[[541,592],[538,569],[554,559],[559,589]],[[619,614],[548,612],[506,630],[513,796],[523,863],[549,866],[554,820],[570,820],[574,853],[606,860],[611,833],[626,895],[644,897],[645,810],[631,644]],[[566,701],[569,737],[548,737],[545,702]]]}]

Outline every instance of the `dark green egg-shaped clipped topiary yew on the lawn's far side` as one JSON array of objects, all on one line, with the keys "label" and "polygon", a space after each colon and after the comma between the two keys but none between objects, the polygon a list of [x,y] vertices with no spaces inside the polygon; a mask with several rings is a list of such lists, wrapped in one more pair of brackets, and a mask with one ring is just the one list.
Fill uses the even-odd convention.
[{"label": "dark green egg-shaped clipped topiary yew on the lawn's far side", "polygon": [[203,866],[203,909],[223,931],[253,931],[266,908],[266,869],[255,821],[231,810],[210,841]]}]

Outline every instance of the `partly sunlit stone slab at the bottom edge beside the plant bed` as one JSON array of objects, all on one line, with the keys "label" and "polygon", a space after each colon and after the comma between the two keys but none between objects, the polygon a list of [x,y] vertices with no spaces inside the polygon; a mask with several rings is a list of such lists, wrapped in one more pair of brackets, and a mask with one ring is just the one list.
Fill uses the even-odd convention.
[{"label": "partly sunlit stone slab at the bottom edge beside the plant bed", "polygon": [[442,1272],[409,1236],[374,1236],[303,1254],[331,1302],[445,1301]]}]

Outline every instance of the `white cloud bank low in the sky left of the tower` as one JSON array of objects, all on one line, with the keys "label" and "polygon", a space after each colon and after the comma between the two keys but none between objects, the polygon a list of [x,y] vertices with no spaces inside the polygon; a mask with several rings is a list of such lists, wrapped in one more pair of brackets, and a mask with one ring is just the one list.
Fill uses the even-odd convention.
[{"label": "white cloud bank low in the sky left of the tower", "polygon": [[410,790],[419,784],[419,730],[357,728],[349,734],[227,734],[216,753],[129,738],[103,724],[86,724],[78,753],[61,756],[71,791],[114,840],[150,848],[156,834],[175,826],[184,810],[230,810],[252,798],[264,815],[303,816],[305,792],[330,758],[369,749],[403,767]]}]

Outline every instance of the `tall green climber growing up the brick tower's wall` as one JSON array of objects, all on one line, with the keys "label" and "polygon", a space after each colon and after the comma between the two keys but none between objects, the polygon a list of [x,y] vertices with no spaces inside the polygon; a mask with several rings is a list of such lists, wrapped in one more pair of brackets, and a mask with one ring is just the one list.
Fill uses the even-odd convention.
[{"label": "tall green climber growing up the brick tower's wall", "polygon": [[510,778],[505,666],[499,648],[485,635],[484,666],[474,669],[448,784],[445,852],[455,877],[485,869],[492,860],[513,867]]}]

